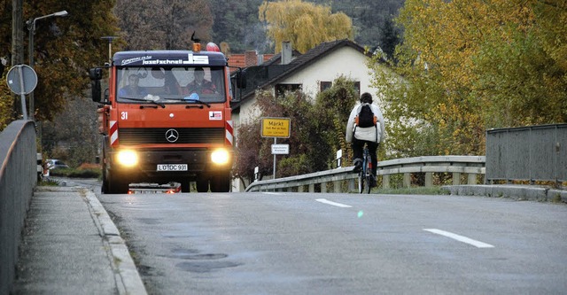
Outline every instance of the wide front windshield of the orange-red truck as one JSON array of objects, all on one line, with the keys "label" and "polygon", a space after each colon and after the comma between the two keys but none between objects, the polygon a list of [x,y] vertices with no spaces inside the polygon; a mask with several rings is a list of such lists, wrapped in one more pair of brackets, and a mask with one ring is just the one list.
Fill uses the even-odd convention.
[{"label": "wide front windshield of the orange-red truck", "polygon": [[116,97],[120,103],[223,103],[222,66],[124,66],[117,69]]}]

